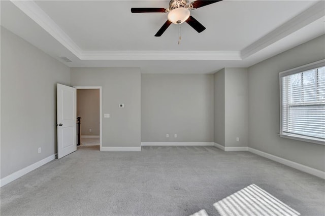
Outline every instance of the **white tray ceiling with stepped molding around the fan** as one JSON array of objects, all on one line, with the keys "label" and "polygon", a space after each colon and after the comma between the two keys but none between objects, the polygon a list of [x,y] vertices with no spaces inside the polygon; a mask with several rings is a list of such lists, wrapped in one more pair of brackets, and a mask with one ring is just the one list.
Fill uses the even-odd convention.
[{"label": "white tray ceiling with stepped molding around the fan", "polygon": [[214,73],[247,67],[325,33],[324,1],[224,0],[191,11],[187,23],[154,34],[169,1],[1,1],[1,25],[70,67],[141,67],[142,73]]}]

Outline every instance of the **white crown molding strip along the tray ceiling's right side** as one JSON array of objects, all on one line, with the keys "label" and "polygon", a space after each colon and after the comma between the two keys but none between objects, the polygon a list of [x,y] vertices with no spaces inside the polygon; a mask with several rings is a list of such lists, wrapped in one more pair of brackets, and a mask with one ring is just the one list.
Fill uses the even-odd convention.
[{"label": "white crown molding strip along the tray ceiling's right side", "polygon": [[305,27],[306,25],[325,16],[325,1],[319,1],[296,17],[290,19],[271,31],[261,39],[255,41],[241,51],[242,59],[245,59],[271,44],[287,37],[289,34]]}]

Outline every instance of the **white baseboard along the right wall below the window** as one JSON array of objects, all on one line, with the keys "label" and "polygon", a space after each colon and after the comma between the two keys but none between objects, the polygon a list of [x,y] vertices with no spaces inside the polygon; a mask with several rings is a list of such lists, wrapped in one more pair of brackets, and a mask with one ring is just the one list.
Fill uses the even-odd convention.
[{"label": "white baseboard along the right wall below the window", "polygon": [[294,161],[290,161],[290,160],[287,160],[287,159],[284,159],[284,158],[280,158],[278,156],[271,155],[269,153],[262,152],[262,151],[259,151],[259,150],[253,149],[253,148],[248,148],[248,151],[251,152],[251,153],[254,153],[256,155],[259,155],[259,156],[268,158],[270,160],[276,161],[278,163],[284,164],[286,166],[293,167],[293,168],[298,169],[300,171],[307,172],[309,174],[312,174],[312,175],[315,175],[315,176],[320,177],[322,179],[325,179],[325,172],[323,172],[321,170],[314,169],[312,167],[305,166],[303,164],[296,163]]}]

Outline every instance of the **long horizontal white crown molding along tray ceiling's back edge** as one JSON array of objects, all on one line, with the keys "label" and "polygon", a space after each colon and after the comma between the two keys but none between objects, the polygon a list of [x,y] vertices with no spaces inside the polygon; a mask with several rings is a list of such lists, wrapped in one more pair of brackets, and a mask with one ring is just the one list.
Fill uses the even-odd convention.
[{"label": "long horizontal white crown molding along tray ceiling's back edge", "polygon": [[83,51],[81,60],[242,60],[239,51]]}]

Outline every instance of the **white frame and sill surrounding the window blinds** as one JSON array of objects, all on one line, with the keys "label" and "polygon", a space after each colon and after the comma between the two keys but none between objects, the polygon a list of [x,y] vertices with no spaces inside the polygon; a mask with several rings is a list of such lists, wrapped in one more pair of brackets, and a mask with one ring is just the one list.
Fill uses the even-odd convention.
[{"label": "white frame and sill surrounding the window blinds", "polygon": [[280,72],[279,74],[279,86],[280,86],[280,133],[279,135],[280,137],[325,145],[324,139],[282,132],[283,131],[282,130],[282,77],[301,73],[307,70],[311,70],[323,66],[325,66],[325,59]]}]

